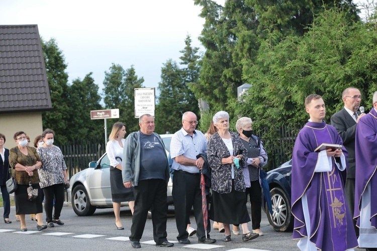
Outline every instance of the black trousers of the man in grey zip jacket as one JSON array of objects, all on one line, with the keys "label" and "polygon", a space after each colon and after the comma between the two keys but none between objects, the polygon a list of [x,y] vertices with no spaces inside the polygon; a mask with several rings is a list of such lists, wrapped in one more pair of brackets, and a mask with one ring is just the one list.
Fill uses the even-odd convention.
[{"label": "black trousers of the man in grey zip jacket", "polygon": [[134,187],[134,215],[132,216],[131,241],[140,241],[143,236],[148,210],[152,211],[153,239],[164,242],[167,236],[166,182],[162,179],[140,180]]}]

